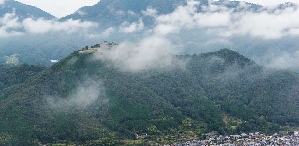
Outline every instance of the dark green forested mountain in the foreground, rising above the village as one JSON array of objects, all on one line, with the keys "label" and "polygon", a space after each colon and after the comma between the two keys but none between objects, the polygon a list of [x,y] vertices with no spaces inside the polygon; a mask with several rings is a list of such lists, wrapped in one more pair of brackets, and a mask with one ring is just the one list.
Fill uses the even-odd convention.
[{"label": "dark green forested mountain in the foreground, rising above the village", "polygon": [[[299,124],[297,73],[259,66],[228,49],[172,56],[167,66],[140,71],[97,59],[102,53],[76,51],[2,89],[0,137],[11,145],[120,145],[146,132],[156,135],[148,137],[154,144],[184,136],[185,128],[201,137],[209,131],[271,134],[285,122]],[[235,118],[226,123],[223,113]]]}]

